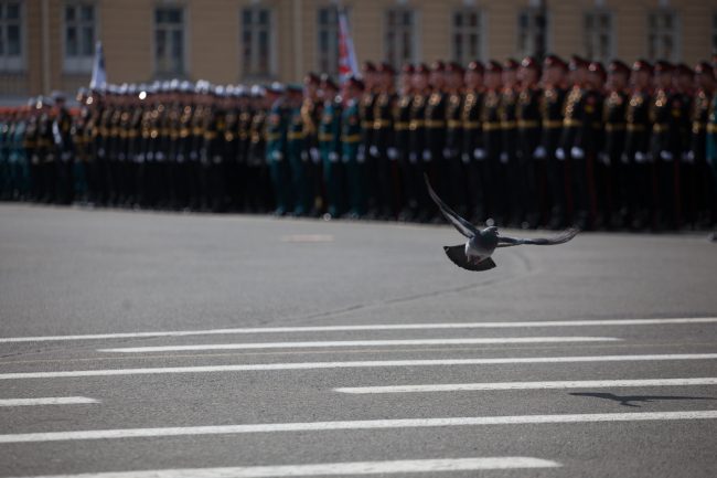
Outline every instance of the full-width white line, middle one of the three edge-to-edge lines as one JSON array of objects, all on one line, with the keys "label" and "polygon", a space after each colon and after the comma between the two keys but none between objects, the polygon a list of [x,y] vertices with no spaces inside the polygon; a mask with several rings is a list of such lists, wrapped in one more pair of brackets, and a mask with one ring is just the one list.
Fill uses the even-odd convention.
[{"label": "full-width white line, middle one of the three edge-to-edge lines", "polygon": [[0,373],[0,380],[68,379],[82,376],[156,375],[165,373],[266,372],[322,369],[372,369],[393,367],[501,365],[582,362],[650,362],[665,360],[715,360],[717,353],[657,355],[507,357],[503,359],[366,360],[353,362],[290,362],[236,365],[158,367],[151,369],[66,370],[56,372]]}]

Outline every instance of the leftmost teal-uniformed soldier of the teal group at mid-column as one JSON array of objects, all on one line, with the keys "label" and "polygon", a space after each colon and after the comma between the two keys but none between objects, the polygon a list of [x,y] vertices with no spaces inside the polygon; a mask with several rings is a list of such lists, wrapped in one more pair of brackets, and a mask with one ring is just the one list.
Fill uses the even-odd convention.
[{"label": "leftmost teal-uniformed soldier of the teal group at mid-column", "polygon": [[290,105],[287,104],[285,93],[285,86],[278,83],[267,88],[267,99],[271,102],[271,109],[267,117],[266,155],[276,200],[274,212],[276,215],[283,215],[292,210],[287,166]]}]

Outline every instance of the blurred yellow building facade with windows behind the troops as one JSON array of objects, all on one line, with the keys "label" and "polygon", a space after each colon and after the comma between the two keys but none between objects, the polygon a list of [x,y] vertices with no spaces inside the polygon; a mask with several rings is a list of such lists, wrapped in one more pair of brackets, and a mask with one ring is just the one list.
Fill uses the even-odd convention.
[{"label": "blurred yellow building facade with windows behind the troops", "polygon": [[338,70],[336,6],[360,62],[521,57],[693,64],[717,51],[717,0],[0,0],[0,102],[108,81],[297,81]]}]

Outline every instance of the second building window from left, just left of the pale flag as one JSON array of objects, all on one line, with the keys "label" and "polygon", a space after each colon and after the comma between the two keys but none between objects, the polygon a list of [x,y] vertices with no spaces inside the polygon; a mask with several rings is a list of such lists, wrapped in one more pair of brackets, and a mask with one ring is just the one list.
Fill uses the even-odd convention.
[{"label": "second building window from left, just left of the pale flag", "polygon": [[95,6],[85,2],[67,3],[64,26],[65,71],[90,72],[95,55]]}]

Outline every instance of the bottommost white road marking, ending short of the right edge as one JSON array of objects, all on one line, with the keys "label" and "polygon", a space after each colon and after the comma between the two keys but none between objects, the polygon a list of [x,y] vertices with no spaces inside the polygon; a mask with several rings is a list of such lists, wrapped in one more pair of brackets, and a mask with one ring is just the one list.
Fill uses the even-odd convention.
[{"label": "bottommost white road marking, ending short of the right edge", "polygon": [[110,471],[81,475],[47,475],[33,478],[270,478],[338,475],[474,471],[485,469],[557,468],[556,461],[523,456],[489,458],[405,459],[312,465],[181,468]]}]

